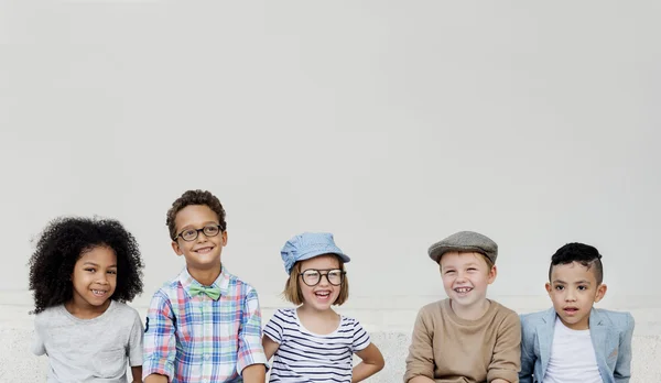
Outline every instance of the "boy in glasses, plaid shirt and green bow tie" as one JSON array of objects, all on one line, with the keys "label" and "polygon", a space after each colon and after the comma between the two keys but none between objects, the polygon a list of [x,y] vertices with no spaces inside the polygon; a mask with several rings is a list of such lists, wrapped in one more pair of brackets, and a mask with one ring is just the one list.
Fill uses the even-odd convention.
[{"label": "boy in glasses, plaid shirt and green bow tie", "polygon": [[252,286],[220,262],[225,209],[209,192],[188,190],[166,219],[186,267],[153,296],[144,331],[145,383],[263,383],[261,313]]}]

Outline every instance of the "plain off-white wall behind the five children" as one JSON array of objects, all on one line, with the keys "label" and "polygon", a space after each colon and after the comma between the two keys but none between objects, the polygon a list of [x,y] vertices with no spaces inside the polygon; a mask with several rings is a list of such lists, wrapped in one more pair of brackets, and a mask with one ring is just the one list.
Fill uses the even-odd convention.
[{"label": "plain off-white wall behind the five children", "polygon": [[546,306],[551,254],[584,241],[604,254],[602,306],[660,335],[660,17],[654,1],[2,1],[0,304],[30,305],[50,219],[100,215],[139,239],[145,305],[183,264],[165,211],[206,188],[228,214],[225,264],[267,308],[284,241],[327,230],[353,255],[348,307],[407,325],[443,296],[427,247],[477,230],[500,245],[494,297]]}]

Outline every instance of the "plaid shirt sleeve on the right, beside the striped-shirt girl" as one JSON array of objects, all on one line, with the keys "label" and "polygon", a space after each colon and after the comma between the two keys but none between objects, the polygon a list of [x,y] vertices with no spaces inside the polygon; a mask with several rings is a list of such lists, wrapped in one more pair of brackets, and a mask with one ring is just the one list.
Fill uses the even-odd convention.
[{"label": "plaid shirt sleeve on the right, beside the striped-shirt girl", "polygon": [[239,350],[237,354],[237,372],[241,374],[251,364],[268,364],[261,343],[261,310],[257,291],[249,287],[243,299],[241,324],[239,327]]}]

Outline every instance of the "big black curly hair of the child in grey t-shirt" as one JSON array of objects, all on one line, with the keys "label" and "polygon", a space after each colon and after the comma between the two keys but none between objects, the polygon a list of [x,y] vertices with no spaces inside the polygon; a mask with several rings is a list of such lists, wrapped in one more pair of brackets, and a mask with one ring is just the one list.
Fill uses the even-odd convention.
[{"label": "big black curly hair of the child in grey t-shirt", "polygon": [[72,273],[83,254],[97,247],[117,256],[117,286],[110,299],[130,302],[142,293],[142,259],[136,238],[113,219],[59,217],[46,226],[30,258],[34,310],[73,299]]}]

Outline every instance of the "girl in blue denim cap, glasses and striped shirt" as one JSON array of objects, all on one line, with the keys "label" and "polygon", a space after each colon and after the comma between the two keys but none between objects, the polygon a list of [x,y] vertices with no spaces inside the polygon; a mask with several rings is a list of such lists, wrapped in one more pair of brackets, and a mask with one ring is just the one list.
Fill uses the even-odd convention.
[{"label": "girl in blue denim cap, glasses and striped shirt", "polygon": [[[305,232],[281,250],[290,275],[283,295],[296,308],[279,309],[262,343],[273,358],[270,382],[360,382],[383,369],[383,357],[358,320],[335,313],[349,296],[350,259],[330,233]],[[362,361],[353,366],[353,355]]]}]

